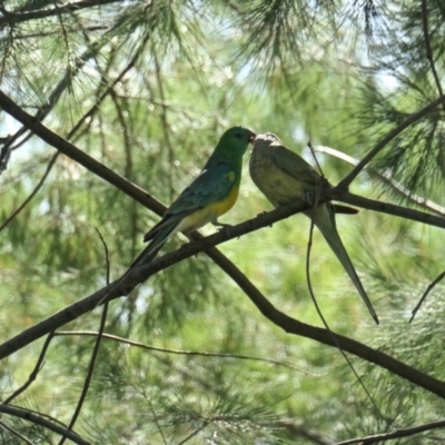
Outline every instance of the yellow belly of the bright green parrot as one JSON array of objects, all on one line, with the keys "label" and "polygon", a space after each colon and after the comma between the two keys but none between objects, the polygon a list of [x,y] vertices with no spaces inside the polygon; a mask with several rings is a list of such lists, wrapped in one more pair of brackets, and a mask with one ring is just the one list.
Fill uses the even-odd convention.
[{"label": "yellow belly of the bright green parrot", "polygon": [[234,207],[238,198],[238,187],[233,187],[230,192],[221,200],[210,204],[191,215],[185,217],[178,225],[176,231],[191,231],[199,229],[210,221],[216,221],[218,217]]}]

